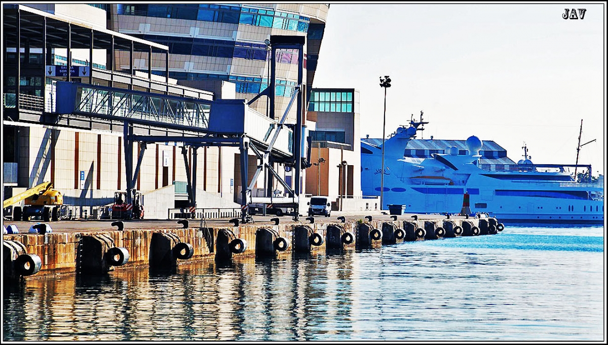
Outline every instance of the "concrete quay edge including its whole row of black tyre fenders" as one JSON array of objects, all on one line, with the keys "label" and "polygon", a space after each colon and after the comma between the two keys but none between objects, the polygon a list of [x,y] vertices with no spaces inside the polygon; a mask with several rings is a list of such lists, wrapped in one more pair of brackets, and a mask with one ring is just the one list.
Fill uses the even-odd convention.
[{"label": "concrete quay edge including its whole row of black tyre fenders", "polygon": [[[399,242],[494,234],[493,218],[351,219],[314,224],[226,224],[199,228],[194,222],[164,228],[131,228],[4,234],[4,277],[35,279],[44,275],[104,275],[126,267],[176,268],[185,261],[230,261],[240,256],[274,258],[278,254],[379,248]],[[109,223],[108,223],[109,225]],[[399,227],[401,225],[401,227]],[[57,227],[55,225],[54,227]],[[443,231],[443,232],[442,232]],[[21,259],[19,259],[21,258]]]}]

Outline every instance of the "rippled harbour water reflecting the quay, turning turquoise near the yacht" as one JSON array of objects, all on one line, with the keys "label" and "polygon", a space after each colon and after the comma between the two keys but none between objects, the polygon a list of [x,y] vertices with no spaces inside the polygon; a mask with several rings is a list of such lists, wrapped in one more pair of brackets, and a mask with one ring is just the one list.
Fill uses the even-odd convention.
[{"label": "rippled harbour water reflecting the quay, turning turquoise near the yacht", "polygon": [[4,287],[4,341],[606,341],[604,228]]}]

